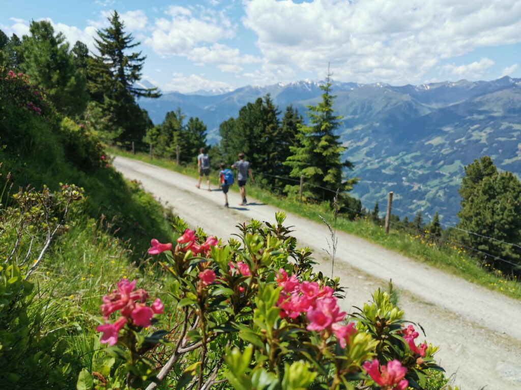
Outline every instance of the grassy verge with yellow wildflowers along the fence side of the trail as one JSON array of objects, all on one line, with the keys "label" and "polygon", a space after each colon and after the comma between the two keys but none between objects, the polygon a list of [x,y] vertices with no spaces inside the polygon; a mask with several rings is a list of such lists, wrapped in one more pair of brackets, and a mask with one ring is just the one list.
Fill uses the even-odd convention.
[{"label": "grassy verge with yellow wildflowers along the fence side of the trail", "polygon": [[[150,159],[147,154],[137,153],[133,155],[118,149],[109,149],[109,152],[122,157],[133,158],[136,160],[151,163],[163,168],[170,169],[184,175],[197,177],[195,167],[178,166],[173,161],[163,159]],[[212,183],[217,185],[217,178],[212,178]],[[231,189],[238,191],[237,186]],[[256,187],[248,187],[249,196],[258,199],[264,203],[278,207],[302,217],[322,223],[319,215],[325,217],[332,222],[334,220],[333,213],[324,205],[300,203],[297,200],[286,197],[276,196],[275,194]],[[417,261],[427,263],[433,267],[439,268],[450,274],[466,279],[470,282],[480,284],[490,290],[497,291],[507,296],[521,299],[521,283],[517,280],[508,280],[501,276],[499,270],[483,269],[479,262],[467,255],[463,248],[452,246],[449,244],[436,245],[426,241],[421,236],[408,234],[404,231],[391,231],[388,235],[383,228],[374,224],[368,219],[360,218],[357,220],[349,220],[339,216],[337,222],[338,230],[364,238],[383,246],[384,248],[399,252]]]}]

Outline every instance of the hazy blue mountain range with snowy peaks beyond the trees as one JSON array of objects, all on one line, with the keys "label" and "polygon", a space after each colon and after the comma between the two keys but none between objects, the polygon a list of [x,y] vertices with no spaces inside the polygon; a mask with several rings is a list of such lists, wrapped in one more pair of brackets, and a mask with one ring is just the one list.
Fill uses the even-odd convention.
[{"label": "hazy blue mountain range with snowy peaks beyond the trees", "polygon": [[[218,141],[222,121],[237,117],[247,102],[271,94],[284,111],[292,104],[305,114],[322,93],[320,83],[300,81],[233,91],[187,95],[166,93],[141,99],[154,123],[180,107],[208,127],[210,143]],[[442,82],[391,86],[333,82],[334,108],[344,115],[339,131],[355,163],[350,176],[361,178],[353,195],[372,209],[386,204],[394,191],[394,213],[410,219],[418,211],[426,218],[436,211],[448,225],[457,221],[457,189],[463,167],[490,155],[501,169],[521,174],[521,79]]]}]

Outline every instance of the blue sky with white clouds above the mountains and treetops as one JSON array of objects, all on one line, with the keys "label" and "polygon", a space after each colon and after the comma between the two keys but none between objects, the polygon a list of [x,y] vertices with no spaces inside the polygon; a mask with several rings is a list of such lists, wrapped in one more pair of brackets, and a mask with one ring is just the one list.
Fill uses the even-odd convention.
[{"label": "blue sky with white clouds above the mountains and treetops", "polygon": [[[519,0],[1,0],[0,29],[49,20],[71,43],[117,10],[163,92],[323,80],[521,77]],[[134,49],[135,50],[135,49]]]}]

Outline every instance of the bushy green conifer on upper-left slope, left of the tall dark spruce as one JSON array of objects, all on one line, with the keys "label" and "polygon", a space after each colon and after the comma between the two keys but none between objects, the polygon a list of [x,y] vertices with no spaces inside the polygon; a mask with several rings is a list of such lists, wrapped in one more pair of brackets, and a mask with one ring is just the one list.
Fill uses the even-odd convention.
[{"label": "bushy green conifer on upper-left slope, left of the tall dark spruce", "polygon": [[21,69],[32,83],[43,87],[56,109],[69,116],[85,110],[89,100],[85,74],[75,67],[74,57],[62,33],[55,34],[50,22],[31,22],[30,35],[23,37]]}]

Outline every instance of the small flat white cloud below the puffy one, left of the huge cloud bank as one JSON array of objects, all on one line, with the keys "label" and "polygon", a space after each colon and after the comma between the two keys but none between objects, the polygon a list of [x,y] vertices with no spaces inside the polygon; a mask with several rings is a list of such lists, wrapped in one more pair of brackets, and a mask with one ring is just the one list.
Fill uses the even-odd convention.
[{"label": "small flat white cloud below the puffy one, left of the huge cloud bank", "polygon": [[261,62],[252,55],[241,55],[239,49],[214,43],[211,47],[195,47],[188,53],[188,59],[196,64],[215,63],[223,72],[238,73],[242,65]]}]

